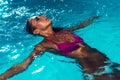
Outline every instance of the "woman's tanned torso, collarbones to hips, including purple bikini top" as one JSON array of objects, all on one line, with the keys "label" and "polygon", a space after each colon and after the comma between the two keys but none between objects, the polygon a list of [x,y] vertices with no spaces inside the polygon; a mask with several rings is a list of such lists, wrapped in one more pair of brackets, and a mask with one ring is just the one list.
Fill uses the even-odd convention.
[{"label": "woman's tanned torso, collarbones to hips, including purple bikini top", "polygon": [[[57,39],[45,38],[45,43],[48,48],[62,52],[61,54],[71,58],[78,59],[84,69],[88,69],[86,73],[94,73],[101,66],[105,66],[104,62],[109,60],[105,55],[101,54],[94,48],[89,47],[84,41],[69,32],[58,32]],[[87,58],[84,59],[84,57]],[[92,66],[92,67],[91,67]],[[93,67],[94,66],[94,67]],[[118,74],[118,73],[116,73]],[[113,76],[116,76],[113,74]],[[94,76],[96,79],[109,80],[109,75]],[[98,78],[99,77],[99,78]],[[104,78],[105,77],[105,78]],[[97,79],[98,78],[98,79]],[[107,78],[107,79],[106,79]]]}]

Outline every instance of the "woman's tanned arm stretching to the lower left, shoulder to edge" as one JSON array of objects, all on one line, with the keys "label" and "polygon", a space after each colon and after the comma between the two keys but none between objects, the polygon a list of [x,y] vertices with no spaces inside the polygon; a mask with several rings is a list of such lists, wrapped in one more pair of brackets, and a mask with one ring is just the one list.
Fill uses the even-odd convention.
[{"label": "woman's tanned arm stretching to the lower left, shoulder to edge", "polygon": [[13,66],[9,70],[7,70],[5,73],[1,74],[0,75],[0,80],[6,80],[7,78],[12,77],[15,74],[18,74],[18,73],[24,71],[32,63],[34,58],[38,54],[41,55],[41,53],[44,52],[44,51],[45,51],[45,48],[41,44],[37,45],[35,47],[35,49],[31,52],[31,54],[28,56],[28,58],[25,59],[24,62]]}]

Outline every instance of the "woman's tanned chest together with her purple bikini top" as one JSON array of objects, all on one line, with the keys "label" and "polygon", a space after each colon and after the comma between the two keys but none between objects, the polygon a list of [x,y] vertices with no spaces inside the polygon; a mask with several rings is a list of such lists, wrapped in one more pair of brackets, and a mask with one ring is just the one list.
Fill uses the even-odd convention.
[{"label": "woman's tanned chest together with her purple bikini top", "polygon": [[58,34],[56,38],[48,39],[49,44],[55,45],[56,49],[63,53],[71,53],[80,46],[82,39],[73,34]]}]

